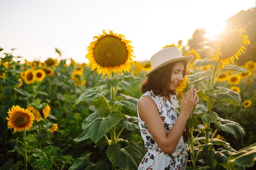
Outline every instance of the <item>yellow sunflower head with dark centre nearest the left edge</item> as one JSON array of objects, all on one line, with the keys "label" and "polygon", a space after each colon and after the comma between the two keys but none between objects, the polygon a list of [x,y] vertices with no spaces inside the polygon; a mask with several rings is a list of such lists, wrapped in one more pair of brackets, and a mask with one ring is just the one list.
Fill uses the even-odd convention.
[{"label": "yellow sunflower head with dark centre nearest the left edge", "polygon": [[13,129],[14,132],[29,130],[32,127],[33,120],[35,120],[35,116],[28,109],[21,108],[19,105],[12,106],[11,110],[7,112],[9,118],[7,126],[8,129]]}]

